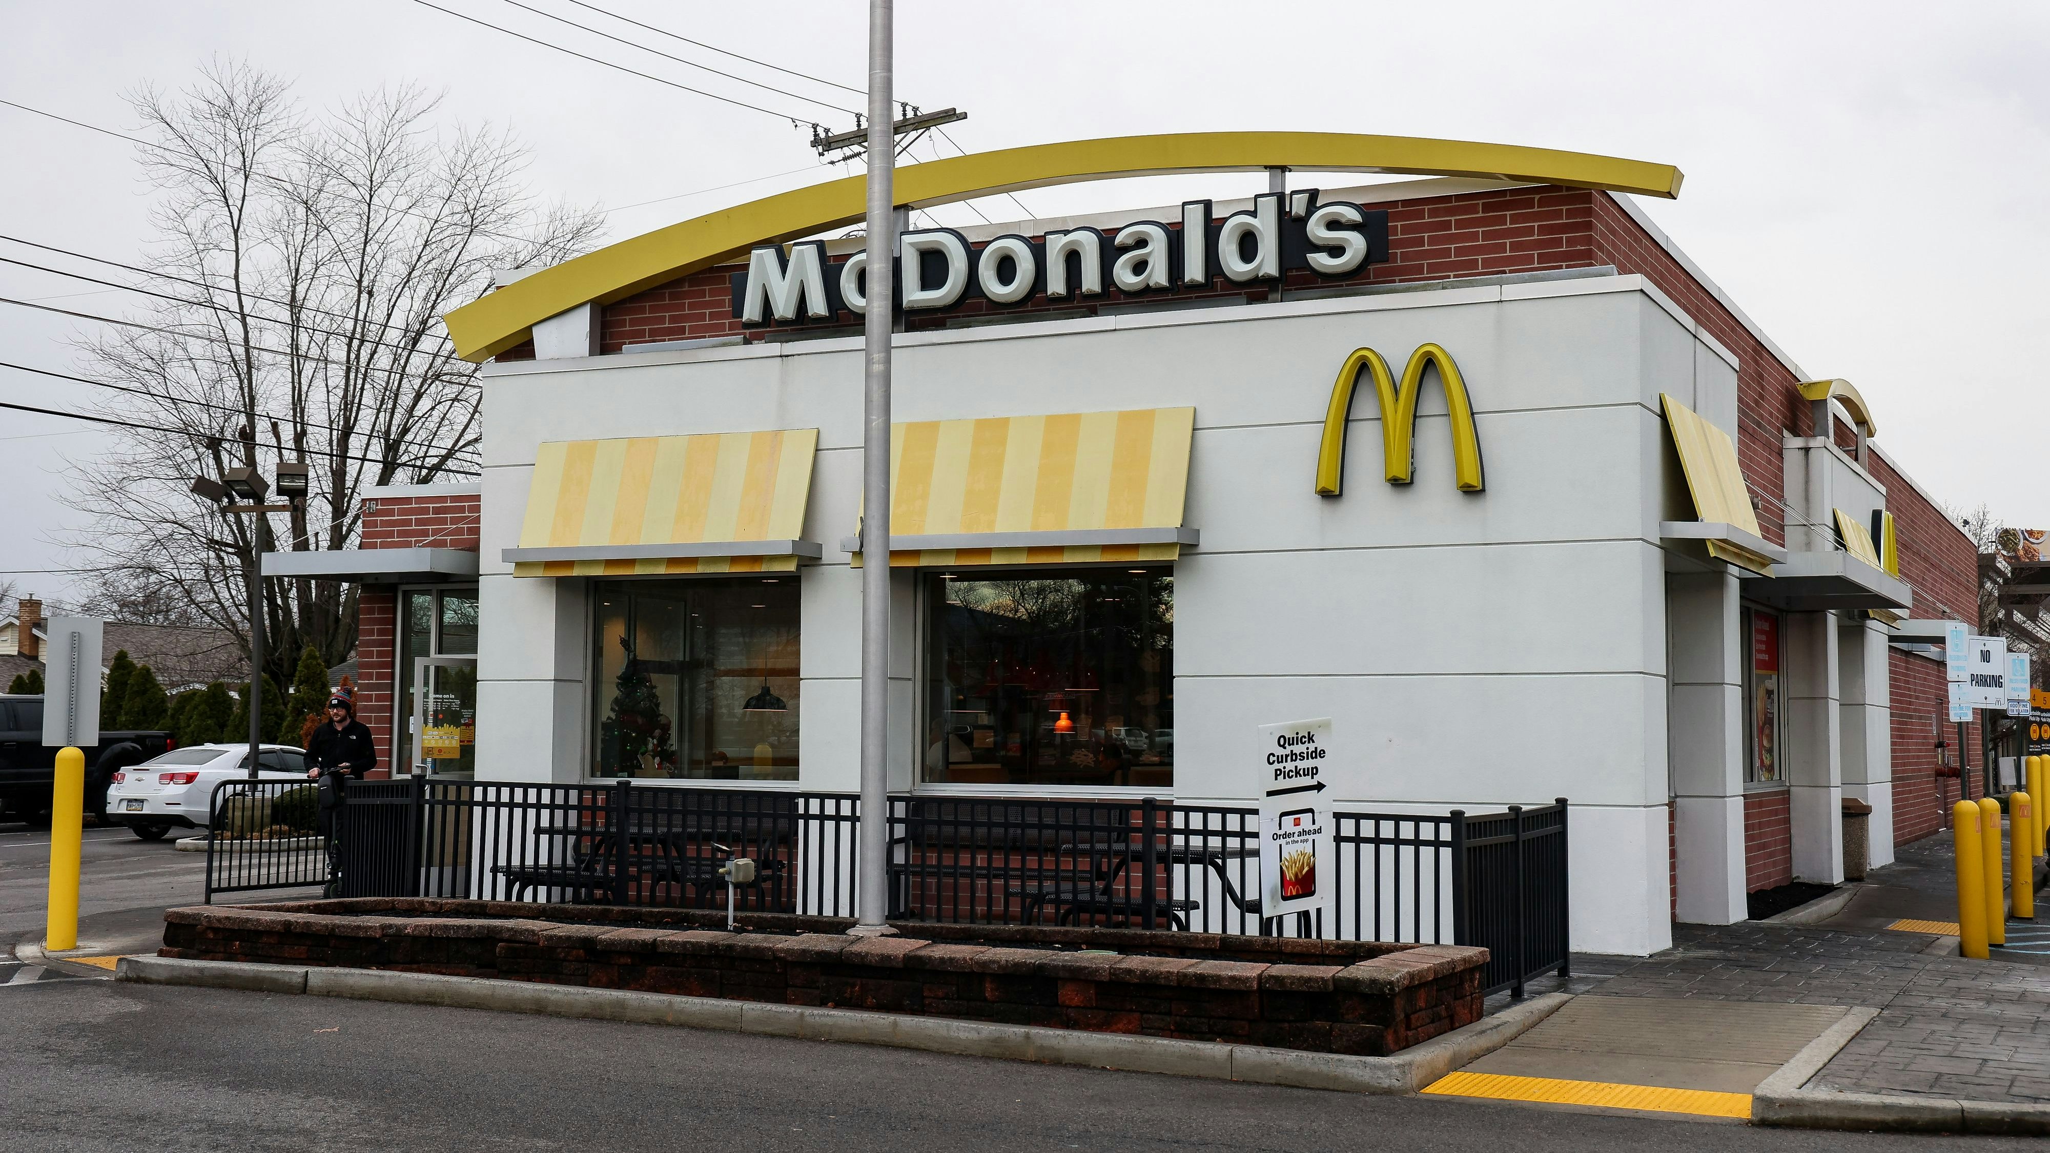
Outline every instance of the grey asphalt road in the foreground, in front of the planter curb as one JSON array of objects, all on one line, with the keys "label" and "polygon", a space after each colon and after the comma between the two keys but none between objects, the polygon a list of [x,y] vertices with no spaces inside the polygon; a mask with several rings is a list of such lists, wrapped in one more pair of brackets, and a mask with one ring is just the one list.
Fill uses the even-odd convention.
[{"label": "grey asphalt road in the foreground, in front of the planter curb", "polygon": [[[0,987],[16,1149],[2023,1149],[219,989]],[[2027,1147],[2034,1147],[2032,1143]]]}]

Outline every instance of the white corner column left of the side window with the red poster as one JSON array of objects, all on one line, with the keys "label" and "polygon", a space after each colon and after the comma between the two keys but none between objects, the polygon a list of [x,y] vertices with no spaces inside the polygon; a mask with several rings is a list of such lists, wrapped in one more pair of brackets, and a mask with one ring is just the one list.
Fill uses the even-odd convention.
[{"label": "white corner column left of the side window with the red poster", "polygon": [[1673,650],[1667,716],[1673,765],[1675,919],[1745,919],[1745,691],[1736,576],[1667,574]]}]

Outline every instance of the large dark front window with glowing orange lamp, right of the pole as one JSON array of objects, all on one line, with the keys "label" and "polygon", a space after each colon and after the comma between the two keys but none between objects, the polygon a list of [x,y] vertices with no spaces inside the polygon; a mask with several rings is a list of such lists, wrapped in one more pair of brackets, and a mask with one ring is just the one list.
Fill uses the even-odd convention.
[{"label": "large dark front window with glowing orange lamp, right of the pole", "polygon": [[1171,568],[935,574],[927,784],[1173,786]]}]

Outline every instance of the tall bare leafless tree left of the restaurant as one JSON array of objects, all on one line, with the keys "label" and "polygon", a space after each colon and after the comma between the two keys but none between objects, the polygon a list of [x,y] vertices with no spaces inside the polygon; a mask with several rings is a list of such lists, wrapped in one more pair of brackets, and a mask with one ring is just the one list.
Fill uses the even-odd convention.
[{"label": "tall bare leafless tree left of the restaurant", "polygon": [[[525,150],[488,129],[437,129],[437,96],[363,94],[310,115],[285,82],[213,64],[182,92],[129,96],[152,146],[166,297],[148,328],[86,345],[107,402],[131,429],[76,474],[92,513],[76,544],[105,564],[98,599],[232,630],[248,646],[244,589],[258,550],[348,548],[359,494],[478,472],[476,365],[441,314],[496,269],[586,248],[599,217],[537,205]],[[193,476],[283,460],[312,470],[289,515],[221,515]],[[355,589],[266,581],[269,671],[289,679],[312,644],[332,665],[357,638]]]}]

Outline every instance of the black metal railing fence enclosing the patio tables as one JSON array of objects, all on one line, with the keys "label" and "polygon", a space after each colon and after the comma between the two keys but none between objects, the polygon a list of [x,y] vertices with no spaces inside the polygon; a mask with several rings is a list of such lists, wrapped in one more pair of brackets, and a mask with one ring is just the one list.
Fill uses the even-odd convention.
[{"label": "black metal railing fence enclosing the patio tables", "polygon": [[[273,794],[293,782],[230,782]],[[228,808],[223,808],[223,804]],[[1259,812],[1156,800],[890,798],[894,919],[1068,923],[1490,950],[1488,991],[1566,975],[1566,802],[1494,814],[1332,812],[1330,901],[1263,909]],[[332,837],[291,849],[215,837],[215,892],[324,884],[340,897],[590,901],[855,915],[859,798],[836,792],[467,780],[351,782]],[[332,853],[330,853],[332,847]],[[332,870],[332,876],[330,876]]]}]

